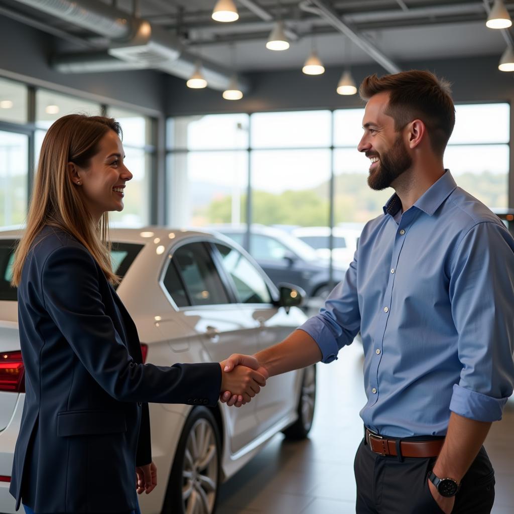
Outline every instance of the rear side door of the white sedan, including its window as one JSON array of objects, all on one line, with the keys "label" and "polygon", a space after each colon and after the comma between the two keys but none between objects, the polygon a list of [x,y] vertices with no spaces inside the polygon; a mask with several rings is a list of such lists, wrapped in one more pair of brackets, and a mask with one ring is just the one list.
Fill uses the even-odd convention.
[{"label": "rear side door of the white sedan, including its window", "polygon": [[[191,336],[205,348],[208,359],[222,361],[232,353],[253,354],[257,350],[259,323],[244,316],[224,283],[204,241],[193,241],[172,249],[163,286],[175,302]],[[255,403],[244,409],[225,408],[228,442],[232,453],[250,442],[258,425]]]}]

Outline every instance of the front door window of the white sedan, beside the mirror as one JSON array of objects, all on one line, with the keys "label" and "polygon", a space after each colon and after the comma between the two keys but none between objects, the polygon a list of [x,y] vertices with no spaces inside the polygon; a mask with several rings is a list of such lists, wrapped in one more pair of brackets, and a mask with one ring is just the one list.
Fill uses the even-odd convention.
[{"label": "front door window of the white sedan, beside the mirror", "polygon": [[232,277],[239,303],[271,303],[266,282],[255,266],[235,248],[216,244],[223,265]]}]

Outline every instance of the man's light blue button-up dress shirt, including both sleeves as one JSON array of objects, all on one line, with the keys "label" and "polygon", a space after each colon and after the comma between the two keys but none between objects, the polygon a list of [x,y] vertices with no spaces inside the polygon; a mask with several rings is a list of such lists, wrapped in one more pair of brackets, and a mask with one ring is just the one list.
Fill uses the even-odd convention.
[{"label": "man's light blue button-up dress shirt, including both sleeves", "polygon": [[514,239],[447,170],[406,212],[391,197],[364,227],[344,280],[300,328],[323,362],[360,330],[360,415],[373,431],[445,435],[450,411],[501,419],[514,384]]}]

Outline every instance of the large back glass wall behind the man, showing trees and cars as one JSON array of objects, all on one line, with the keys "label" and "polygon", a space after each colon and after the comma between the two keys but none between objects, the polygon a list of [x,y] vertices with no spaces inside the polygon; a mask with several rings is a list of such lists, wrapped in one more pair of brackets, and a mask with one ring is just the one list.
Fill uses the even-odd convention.
[{"label": "large back glass wall behind the man, showing trees and cars", "polygon": [[[456,111],[445,166],[489,207],[507,207],[509,105]],[[302,285],[310,297],[326,295],[330,279],[337,282],[352,261],[364,223],[394,192],[368,186],[370,161],[357,151],[363,114],[360,108],[170,119],[169,222],[215,227],[249,249],[272,280]],[[317,274],[323,280],[314,283]]]}]

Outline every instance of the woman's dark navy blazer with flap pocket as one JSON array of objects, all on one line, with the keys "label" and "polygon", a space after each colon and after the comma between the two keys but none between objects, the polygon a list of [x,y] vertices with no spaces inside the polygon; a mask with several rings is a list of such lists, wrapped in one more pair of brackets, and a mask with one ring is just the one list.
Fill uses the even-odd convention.
[{"label": "woman's dark navy blazer with flap pocket", "polygon": [[25,405],[10,492],[34,512],[136,509],[148,404],[216,404],[218,363],[142,364],[137,330],[93,256],[45,227],[18,288]]}]

